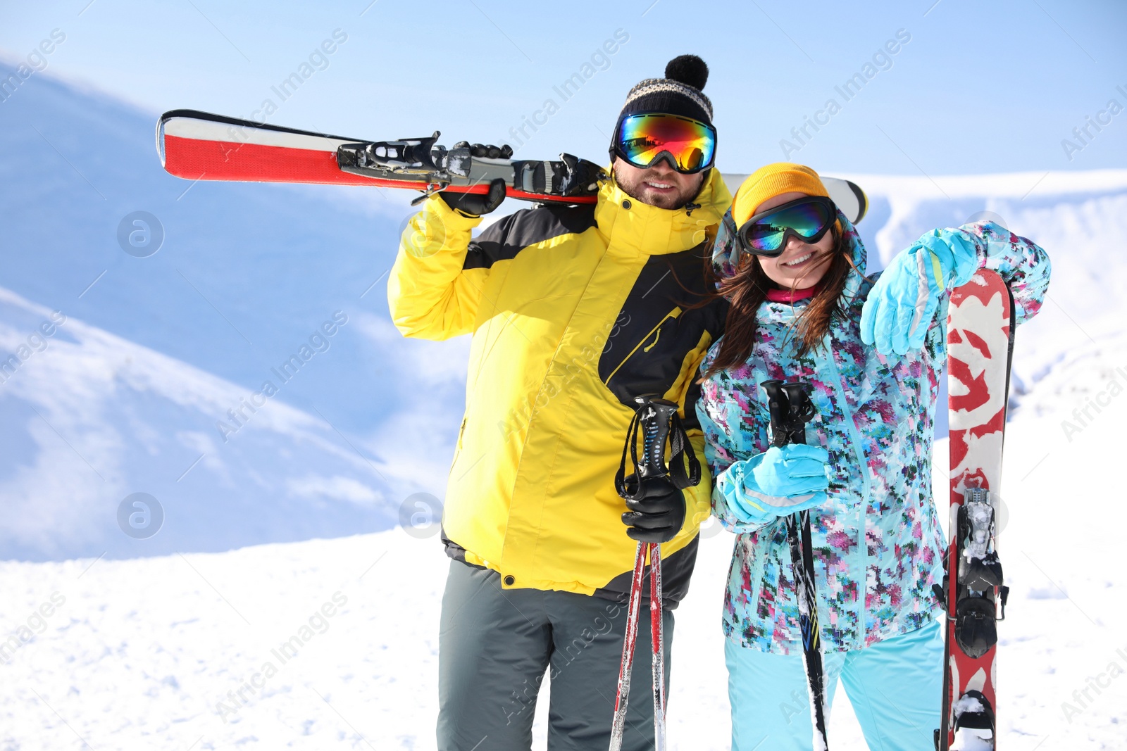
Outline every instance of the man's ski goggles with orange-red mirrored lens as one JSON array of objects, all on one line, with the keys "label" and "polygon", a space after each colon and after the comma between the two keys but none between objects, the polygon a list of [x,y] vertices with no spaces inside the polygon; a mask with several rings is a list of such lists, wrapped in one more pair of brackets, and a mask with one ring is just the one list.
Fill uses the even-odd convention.
[{"label": "man's ski goggles with orange-red mirrored lens", "polygon": [[627,115],[614,131],[613,153],[639,169],[666,159],[673,169],[693,175],[712,167],[716,128],[663,113]]}]

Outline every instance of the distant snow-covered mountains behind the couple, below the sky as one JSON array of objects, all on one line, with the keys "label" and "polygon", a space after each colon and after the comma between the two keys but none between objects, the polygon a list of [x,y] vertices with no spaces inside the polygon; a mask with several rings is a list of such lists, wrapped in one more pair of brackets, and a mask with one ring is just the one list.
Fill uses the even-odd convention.
[{"label": "distant snow-covered mountains behind the couple, below the sky", "polygon": [[[179,180],[154,122],[46,73],[0,104],[0,360],[65,320],[0,382],[15,511],[0,558],[218,552],[387,530],[419,502],[437,513],[469,342],[390,322],[410,196]],[[1068,352],[1122,329],[1127,170],[841,177],[870,197],[870,269],[984,213],[1049,250],[1049,301],[1018,333],[1015,414]],[[126,241],[135,212],[162,235],[151,254]],[[122,531],[134,493],[165,511],[152,537]]]}]

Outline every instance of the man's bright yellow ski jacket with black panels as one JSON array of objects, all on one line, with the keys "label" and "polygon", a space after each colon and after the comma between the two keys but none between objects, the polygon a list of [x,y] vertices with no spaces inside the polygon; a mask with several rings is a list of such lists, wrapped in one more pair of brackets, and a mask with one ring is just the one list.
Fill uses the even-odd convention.
[{"label": "man's bright yellow ski jacket with black panels", "polygon": [[[704,268],[730,203],[716,170],[678,209],[607,179],[594,205],[520,211],[472,239],[480,218],[426,200],[403,232],[388,302],[406,337],[473,336],[442,521],[453,557],[499,572],[505,588],[629,591],[636,543],[614,473],[633,397],[681,404],[703,464],[696,370],[727,313],[706,297]],[[703,474],[685,491],[684,527],[662,546],[669,606],[687,590],[709,515]]]}]

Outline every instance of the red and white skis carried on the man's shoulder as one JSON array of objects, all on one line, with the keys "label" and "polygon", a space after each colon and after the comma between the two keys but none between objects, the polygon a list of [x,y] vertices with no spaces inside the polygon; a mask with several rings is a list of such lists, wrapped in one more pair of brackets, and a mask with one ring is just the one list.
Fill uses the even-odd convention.
[{"label": "red and white skis carried on the man's shoulder", "polygon": [[[505,180],[509,198],[536,203],[593,204],[603,168],[560,154],[558,161],[472,157],[469,149],[438,145],[438,132],[419,138],[366,141],[174,109],[157,120],[161,167],[186,180],[363,185],[485,194]],[[726,176],[728,185],[740,176]],[[823,178],[829,197],[853,223],[867,208],[853,182]]]}]

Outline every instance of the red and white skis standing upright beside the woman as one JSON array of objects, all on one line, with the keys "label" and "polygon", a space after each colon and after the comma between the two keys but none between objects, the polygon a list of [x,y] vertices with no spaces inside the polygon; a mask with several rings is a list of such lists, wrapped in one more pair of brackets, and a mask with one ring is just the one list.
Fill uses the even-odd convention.
[{"label": "red and white skis standing upright beside the woman", "polygon": [[947,610],[937,751],[997,748],[996,623],[1009,588],[996,546],[1012,352],[1013,297],[979,269],[951,292],[947,318],[950,543],[935,585]]}]

